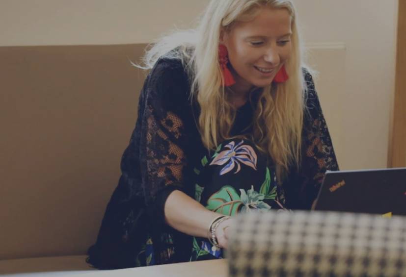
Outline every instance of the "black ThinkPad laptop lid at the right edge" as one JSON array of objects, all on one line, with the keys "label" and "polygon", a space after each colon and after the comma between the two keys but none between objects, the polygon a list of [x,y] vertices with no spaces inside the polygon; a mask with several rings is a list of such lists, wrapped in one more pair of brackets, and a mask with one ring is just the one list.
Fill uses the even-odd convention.
[{"label": "black ThinkPad laptop lid at the right edge", "polygon": [[314,209],[406,215],[406,168],[327,171]]}]

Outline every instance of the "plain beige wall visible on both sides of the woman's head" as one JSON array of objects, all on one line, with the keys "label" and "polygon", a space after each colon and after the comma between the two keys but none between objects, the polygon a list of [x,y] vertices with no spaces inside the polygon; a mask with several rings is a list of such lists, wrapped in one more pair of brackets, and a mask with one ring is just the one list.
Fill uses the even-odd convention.
[{"label": "plain beige wall visible on both sides of the woman's head", "polygon": [[[147,43],[191,26],[208,2],[0,0],[0,46]],[[386,167],[397,0],[294,2],[306,43],[324,53],[310,63],[341,168]]]}]

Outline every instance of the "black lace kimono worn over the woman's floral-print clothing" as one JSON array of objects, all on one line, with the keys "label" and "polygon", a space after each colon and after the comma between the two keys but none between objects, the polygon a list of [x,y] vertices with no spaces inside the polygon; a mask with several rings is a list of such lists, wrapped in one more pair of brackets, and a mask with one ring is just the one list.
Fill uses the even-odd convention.
[{"label": "black lace kimono worn over the woman's floral-print clothing", "polygon": [[[283,184],[277,184],[278,193],[269,190],[268,185],[269,195],[265,196],[283,202],[288,209],[310,209],[325,171],[338,170],[312,77],[304,74],[308,110],[301,167],[292,168]],[[202,187],[196,183],[196,174],[202,163],[207,164],[202,157],[208,155],[208,150],[197,129],[199,107],[191,104],[189,95],[190,79],[182,63],[160,59],[142,88],[135,130],[121,161],[122,175],[108,203],[96,244],[88,252],[87,261],[95,267],[115,269],[195,260],[191,257],[200,245],[196,246],[195,238],[167,226],[163,214],[166,198],[173,190],[200,200]],[[239,108],[233,134],[249,130],[252,112],[249,102]],[[209,154],[214,164],[219,150]],[[272,168],[265,167],[264,184],[267,180],[270,183],[270,176],[274,176]],[[264,188],[258,186],[254,192],[254,187],[251,191],[247,187],[241,199],[247,199],[247,193],[255,196]],[[239,209],[249,208],[242,200]],[[260,202],[263,207],[271,207]]]}]

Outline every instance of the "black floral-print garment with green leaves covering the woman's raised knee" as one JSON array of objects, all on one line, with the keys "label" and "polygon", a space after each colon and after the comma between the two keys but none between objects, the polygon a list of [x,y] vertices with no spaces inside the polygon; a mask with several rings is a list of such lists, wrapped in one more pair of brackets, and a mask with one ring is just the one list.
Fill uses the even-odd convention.
[{"label": "black floral-print garment with green leaves covering the woman's raised knee", "polygon": [[[207,209],[233,216],[239,212],[284,209],[282,188],[266,157],[244,139],[226,141],[205,155],[196,173],[195,200]],[[208,175],[208,176],[204,176]],[[222,258],[222,249],[208,239],[193,237],[190,261]]]}]

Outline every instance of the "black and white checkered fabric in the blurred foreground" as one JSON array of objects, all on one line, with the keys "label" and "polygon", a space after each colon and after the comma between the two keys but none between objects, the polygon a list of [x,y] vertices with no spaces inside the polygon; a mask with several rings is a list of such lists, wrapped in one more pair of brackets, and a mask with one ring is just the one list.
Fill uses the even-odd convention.
[{"label": "black and white checkered fabric in the blurred foreground", "polygon": [[406,217],[251,212],[235,218],[226,256],[230,277],[406,277]]}]

